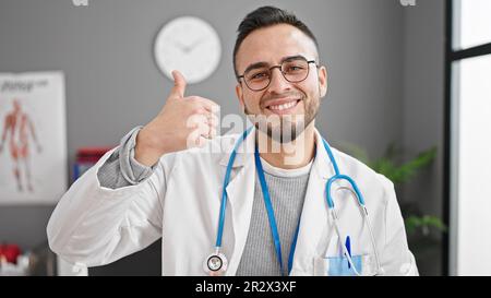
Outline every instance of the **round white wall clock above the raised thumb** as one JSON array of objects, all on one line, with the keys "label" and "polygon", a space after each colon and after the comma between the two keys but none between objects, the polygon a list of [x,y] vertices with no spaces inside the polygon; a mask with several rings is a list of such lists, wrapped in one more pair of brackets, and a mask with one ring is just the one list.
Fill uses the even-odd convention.
[{"label": "round white wall clock above the raised thumb", "polygon": [[205,21],[181,16],[167,23],[155,39],[155,60],[164,74],[172,79],[180,71],[190,84],[208,78],[220,60],[218,34]]}]

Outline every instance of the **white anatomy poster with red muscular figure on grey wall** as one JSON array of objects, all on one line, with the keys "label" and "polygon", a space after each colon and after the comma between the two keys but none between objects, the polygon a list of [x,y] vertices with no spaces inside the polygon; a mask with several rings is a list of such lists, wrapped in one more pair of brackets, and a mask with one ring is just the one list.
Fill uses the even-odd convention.
[{"label": "white anatomy poster with red muscular figure on grey wall", "polygon": [[0,73],[0,204],[53,204],[65,190],[63,73]]}]

